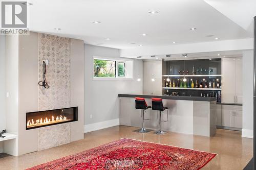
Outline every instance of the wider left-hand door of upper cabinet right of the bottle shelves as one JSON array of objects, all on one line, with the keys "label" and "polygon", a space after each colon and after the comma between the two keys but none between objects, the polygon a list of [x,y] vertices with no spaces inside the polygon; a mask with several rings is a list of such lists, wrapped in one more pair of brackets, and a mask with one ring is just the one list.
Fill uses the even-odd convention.
[{"label": "wider left-hand door of upper cabinet right of the bottle shelves", "polygon": [[236,60],[234,58],[222,59],[222,103],[236,102]]}]

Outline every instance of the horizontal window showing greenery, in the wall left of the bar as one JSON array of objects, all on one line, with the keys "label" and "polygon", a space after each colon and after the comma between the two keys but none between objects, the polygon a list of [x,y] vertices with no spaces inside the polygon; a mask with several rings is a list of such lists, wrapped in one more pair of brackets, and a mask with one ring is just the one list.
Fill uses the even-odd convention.
[{"label": "horizontal window showing greenery, in the wall left of the bar", "polygon": [[93,57],[93,79],[133,79],[133,60]]}]

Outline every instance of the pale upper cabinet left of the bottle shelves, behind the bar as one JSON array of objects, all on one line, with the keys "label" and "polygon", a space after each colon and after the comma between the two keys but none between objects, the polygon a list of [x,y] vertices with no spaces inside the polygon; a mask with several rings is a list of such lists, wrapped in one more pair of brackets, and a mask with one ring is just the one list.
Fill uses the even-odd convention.
[{"label": "pale upper cabinet left of the bottle shelves, behind the bar", "polygon": [[143,94],[161,95],[162,61],[144,61],[143,64]]}]

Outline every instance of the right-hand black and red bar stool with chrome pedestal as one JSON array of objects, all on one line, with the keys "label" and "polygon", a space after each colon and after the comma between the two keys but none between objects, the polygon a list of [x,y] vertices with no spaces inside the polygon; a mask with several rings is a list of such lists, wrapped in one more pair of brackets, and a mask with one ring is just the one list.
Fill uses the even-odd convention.
[{"label": "right-hand black and red bar stool with chrome pedestal", "polygon": [[[163,107],[163,102],[161,98],[152,98],[152,110],[156,110],[157,112],[160,111],[159,128],[156,134],[165,134],[166,132],[161,130],[161,122],[168,122],[168,107]],[[161,115],[164,110],[167,110],[167,120],[161,119]],[[157,113],[157,118],[158,118],[158,113]]]}]

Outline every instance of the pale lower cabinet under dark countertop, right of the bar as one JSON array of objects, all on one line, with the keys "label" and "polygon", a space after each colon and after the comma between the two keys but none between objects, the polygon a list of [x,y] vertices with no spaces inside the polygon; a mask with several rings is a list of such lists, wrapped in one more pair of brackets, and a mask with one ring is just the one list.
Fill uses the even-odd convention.
[{"label": "pale lower cabinet under dark countertop, right of the bar", "polygon": [[242,129],[242,106],[221,105],[221,126]]}]

